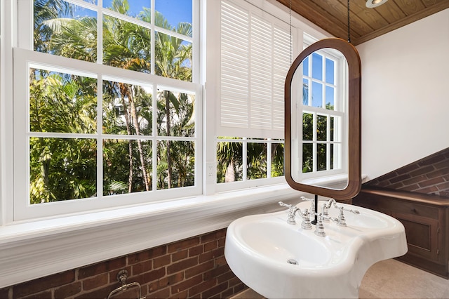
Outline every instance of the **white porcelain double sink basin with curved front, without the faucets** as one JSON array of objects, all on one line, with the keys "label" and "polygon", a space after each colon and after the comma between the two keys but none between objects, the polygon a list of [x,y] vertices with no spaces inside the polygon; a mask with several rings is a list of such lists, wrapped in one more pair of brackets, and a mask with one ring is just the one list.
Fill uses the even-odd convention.
[{"label": "white porcelain double sink basin with curved front, without the faucets", "polygon": [[[347,227],[325,222],[325,237],[287,223],[288,211],[250,215],[229,225],[225,258],[244,284],[267,298],[358,298],[366,270],[407,252],[398,220],[358,206],[344,212]],[[310,203],[297,207],[304,211]],[[329,214],[337,217],[337,208]]]}]

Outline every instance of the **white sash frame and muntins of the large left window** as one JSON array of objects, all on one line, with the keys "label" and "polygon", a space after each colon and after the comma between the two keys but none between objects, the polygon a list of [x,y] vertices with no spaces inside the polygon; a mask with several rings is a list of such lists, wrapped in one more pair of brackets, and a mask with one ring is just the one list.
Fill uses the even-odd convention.
[{"label": "white sash frame and muntins of the large left window", "polygon": [[[88,4],[85,1],[80,0],[69,0],[70,3],[80,5],[86,8],[95,8],[93,4]],[[19,1],[20,11],[19,18],[25,15],[31,15],[32,13],[33,1]],[[154,5],[154,1],[153,1]],[[30,7],[31,6],[31,7]],[[152,6],[154,7],[154,6]],[[31,9],[30,9],[31,8]],[[126,19],[128,22],[134,22],[135,20],[130,17],[120,15],[113,11],[109,11],[105,8],[97,8],[98,12],[107,13],[107,15],[114,15],[114,18]],[[23,11],[23,13],[22,13]],[[154,13],[153,13],[154,14]],[[98,19],[102,19],[98,17]],[[154,20],[154,18],[152,18]],[[195,20],[195,19],[194,19]],[[196,22],[196,20],[195,20]],[[195,23],[194,22],[194,23]],[[99,30],[102,28],[101,22],[98,25]],[[137,22],[136,22],[137,23]],[[143,23],[143,22],[140,22]],[[142,25],[142,24],[138,25]],[[25,25],[25,26],[24,26]],[[165,29],[161,29],[154,25],[145,25],[148,29],[161,31],[166,34],[172,34]],[[42,217],[55,217],[59,215],[69,214],[69,213],[88,213],[90,211],[95,211],[101,208],[113,208],[118,206],[130,205],[130,204],[145,204],[151,201],[160,201],[168,199],[177,199],[181,197],[194,196],[201,194],[202,190],[202,138],[201,138],[201,128],[202,128],[202,86],[201,84],[187,81],[180,81],[170,78],[159,77],[153,74],[144,74],[140,72],[133,72],[126,69],[119,69],[116,67],[110,67],[108,65],[102,65],[102,39],[101,32],[99,31],[98,36],[98,63],[85,62],[80,60],[74,60],[70,58],[64,58],[58,55],[51,55],[46,53],[39,53],[32,51],[32,44],[27,43],[29,39],[25,38],[27,34],[31,34],[32,26],[29,22],[24,22],[19,24],[18,28],[20,34],[19,37],[19,47],[14,48],[14,131],[13,134],[16,136],[14,138],[15,147],[15,171],[14,171],[14,214],[13,219],[27,220],[32,218],[42,218]],[[165,32],[164,32],[165,31]],[[175,34],[177,37],[185,39],[193,43],[193,48],[197,48],[198,41],[195,39],[190,39],[188,36],[180,36],[180,34]],[[197,35],[197,34],[196,34]],[[31,34],[32,36],[32,34]],[[154,34],[152,34],[154,36]],[[20,43],[22,41],[22,43]],[[22,46],[21,46],[22,45]],[[31,48],[30,48],[31,47]],[[154,40],[152,42],[152,48],[154,49]],[[152,57],[154,58],[154,51],[152,51]],[[154,59],[153,59],[154,61]],[[84,77],[91,77],[97,79],[97,110],[98,110],[98,126],[96,134],[77,134],[77,133],[40,133],[40,132],[30,132],[29,131],[29,69],[30,67],[56,70],[58,72],[68,73],[68,74],[81,74]],[[199,69],[199,60],[193,61],[192,69]],[[152,63],[152,73],[154,73],[154,63]],[[196,74],[197,77],[198,75]],[[196,78],[194,78],[196,79]],[[182,93],[194,94],[196,97],[196,107],[195,109],[195,135],[193,137],[177,137],[177,136],[159,136],[156,130],[156,117],[153,117],[152,132],[153,135],[133,135],[133,136],[122,136],[122,135],[109,135],[102,133],[102,82],[103,81],[122,81],[128,84],[136,84],[140,86],[147,86],[152,88],[152,98],[153,115],[157,114],[156,98],[158,89],[168,89],[170,91],[177,91]],[[18,137],[20,136],[20,137]],[[97,196],[92,198],[84,199],[71,199],[55,201],[51,203],[43,204],[29,204],[29,166],[27,159],[23,157],[29,157],[29,138],[30,137],[51,137],[51,138],[91,138],[97,140]],[[152,142],[152,180],[153,186],[152,191],[148,192],[135,192],[130,194],[116,194],[116,195],[103,195],[102,190],[102,140],[104,138],[116,138],[116,139],[133,139],[133,140],[147,140]],[[170,190],[156,190],[156,146],[157,142],[163,140],[182,140],[188,142],[194,142],[195,147],[195,185],[189,187],[179,187],[172,188]],[[26,175],[23,175],[26,173]],[[25,186],[25,187],[24,187]],[[25,200],[24,200],[25,199]]]}]

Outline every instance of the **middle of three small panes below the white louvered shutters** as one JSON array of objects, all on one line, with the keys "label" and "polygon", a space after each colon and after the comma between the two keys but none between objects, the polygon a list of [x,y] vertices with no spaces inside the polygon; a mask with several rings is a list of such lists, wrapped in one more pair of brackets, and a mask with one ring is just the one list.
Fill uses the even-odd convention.
[{"label": "middle of three small panes below the white louvered shutters", "polygon": [[248,142],[246,161],[248,180],[267,178],[267,143]]}]

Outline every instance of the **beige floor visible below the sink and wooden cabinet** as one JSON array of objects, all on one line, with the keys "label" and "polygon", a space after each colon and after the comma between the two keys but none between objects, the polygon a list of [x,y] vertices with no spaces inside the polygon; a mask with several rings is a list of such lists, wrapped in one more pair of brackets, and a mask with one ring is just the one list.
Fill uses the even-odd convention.
[{"label": "beige floor visible below the sink and wooden cabinet", "polygon": [[[449,298],[449,280],[422,271],[398,260],[382,260],[363,277],[359,298]],[[248,289],[232,299],[264,298]]]}]

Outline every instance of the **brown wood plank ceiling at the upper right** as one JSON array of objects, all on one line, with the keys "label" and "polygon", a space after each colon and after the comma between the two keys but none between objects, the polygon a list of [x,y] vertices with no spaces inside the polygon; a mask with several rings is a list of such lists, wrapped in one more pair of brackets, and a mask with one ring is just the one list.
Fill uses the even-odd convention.
[{"label": "brown wood plank ceiling at the upper right", "polygon": [[[290,0],[277,0],[290,7]],[[333,36],[348,39],[347,0],[291,0],[292,10]],[[367,8],[350,0],[351,44],[358,45],[449,8],[449,0],[388,0]],[[436,28],[437,29],[437,28]]]}]

